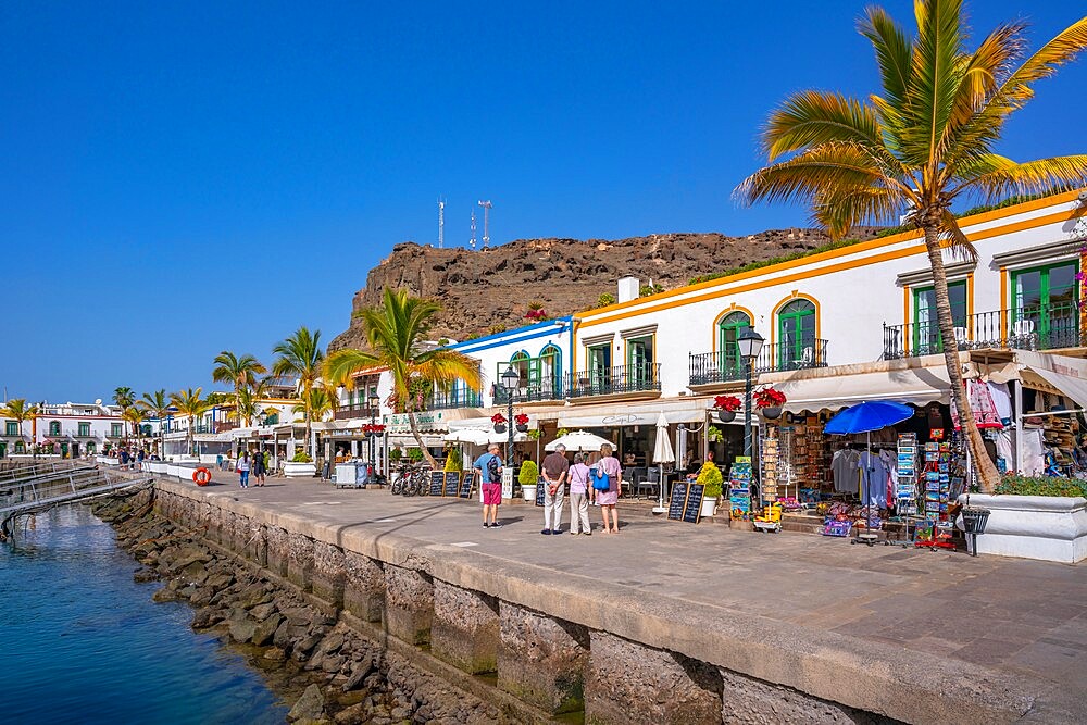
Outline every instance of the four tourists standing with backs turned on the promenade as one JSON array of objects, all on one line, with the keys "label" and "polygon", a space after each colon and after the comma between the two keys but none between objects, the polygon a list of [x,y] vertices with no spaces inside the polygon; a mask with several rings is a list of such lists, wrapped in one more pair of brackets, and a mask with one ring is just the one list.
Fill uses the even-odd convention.
[{"label": "four tourists standing with backs turned on the promenade", "polygon": [[[502,503],[502,459],[498,443],[491,443],[487,452],[476,459],[472,467],[476,470],[483,491],[483,527],[497,528],[498,507]],[[554,452],[544,459],[540,480],[544,486],[544,536],[562,534],[562,509],[566,485],[570,485],[570,533],[573,536],[592,535],[589,523],[589,505],[600,507],[604,534],[619,534],[620,486],[623,468],[613,455],[610,443],[600,446],[599,452],[575,453],[571,465],[566,458],[566,447],[555,446]]]}]

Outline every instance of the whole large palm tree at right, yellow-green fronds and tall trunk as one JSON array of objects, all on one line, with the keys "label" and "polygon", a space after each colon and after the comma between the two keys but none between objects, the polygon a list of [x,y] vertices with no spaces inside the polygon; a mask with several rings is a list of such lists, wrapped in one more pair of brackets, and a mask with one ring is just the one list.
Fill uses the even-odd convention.
[{"label": "whole large palm tree at right, yellow-green fronds and tall trunk", "polygon": [[1087,17],[1027,57],[1022,22],[999,26],[971,52],[962,0],[917,0],[914,14],[911,37],[883,9],[865,11],[859,29],[875,49],[882,95],[790,96],[762,132],[769,165],[745,179],[737,196],[748,203],[803,201],[834,238],[907,210],[907,224],[924,234],[952,401],[989,492],[999,477],[964,395],[942,248],[966,259],[977,253],[951,204],[1052,193],[1087,180],[1087,155],[1015,162],[994,151],[1035,83],[1087,47]]}]

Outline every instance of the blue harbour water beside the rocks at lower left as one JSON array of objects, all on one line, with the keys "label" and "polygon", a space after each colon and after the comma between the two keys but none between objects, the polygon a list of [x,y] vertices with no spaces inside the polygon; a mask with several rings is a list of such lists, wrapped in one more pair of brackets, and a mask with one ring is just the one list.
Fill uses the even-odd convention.
[{"label": "blue harbour water beside the rocks at lower left", "polygon": [[283,723],[241,655],[192,610],[135,584],[113,529],[83,507],[0,545],[0,722]]}]

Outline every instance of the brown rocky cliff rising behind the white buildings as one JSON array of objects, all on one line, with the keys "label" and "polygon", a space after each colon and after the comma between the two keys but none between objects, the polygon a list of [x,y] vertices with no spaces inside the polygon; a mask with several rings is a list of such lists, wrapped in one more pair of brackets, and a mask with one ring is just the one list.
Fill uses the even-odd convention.
[{"label": "brown rocky cliff rising behind the white buildings", "polygon": [[[851,236],[870,239],[877,230],[864,227]],[[366,286],[355,292],[351,307],[354,312],[378,304],[386,287],[404,287],[442,302],[435,339],[462,340],[528,324],[525,314],[534,301],[541,302],[549,316],[595,307],[601,293],[615,293],[616,280],[625,275],[638,277],[644,285],[652,280],[673,289],[691,277],[803,252],[828,241],[813,229],[774,229],[747,237],[714,233],[611,241],[517,239],[478,251],[408,242],[397,245],[370,271]],[[362,345],[362,328],[352,316],[350,327],[329,349]]]}]

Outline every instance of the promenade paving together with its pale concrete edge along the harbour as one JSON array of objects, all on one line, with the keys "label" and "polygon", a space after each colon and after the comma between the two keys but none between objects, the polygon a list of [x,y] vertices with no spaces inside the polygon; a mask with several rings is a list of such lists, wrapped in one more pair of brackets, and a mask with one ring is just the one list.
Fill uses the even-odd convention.
[{"label": "promenade paving together with its pale concrete edge along the harbour", "polygon": [[[946,680],[944,693],[962,700],[960,714],[973,701],[978,712],[1002,713],[995,720],[1087,722],[1084,567],[690,525],[653,517],[639,503],[621,504],[619,535],[599,533],[599,510],[590,508],[591,537],[565,533],[569,509],[564,533],[541,536],[542,511],[524,503],[503,504],[504,526],[485,529],[476,501],[338,490],[315,479],[270,479],[242,490],[233,475],[217,478],[198,493],[376,543],[414,542],[432,558],[449,552],[526,586],[550,587],[554,610],[578,592],[615,608],[586,613],[601,626],[614,624],[624,637],[644,634],[637,641],[654,647],[674,636],[669,649],[698,658],[701,645],[689,641],[689,629],[673,633],[667,624],[694,616],[713,647],[728,650],[707,661],[769,682],[783,682],[784,668],[785,684],[804,683],[807,692],[872,712],[940,720],[946,703],[872,707],[903,696],[855,691],[900,678],[933,691]],[[641,624],[650,618],[652,625]],[[841,682],[828,682],[836,671]],[[948,712],[945,722],[961,720]]]}]

